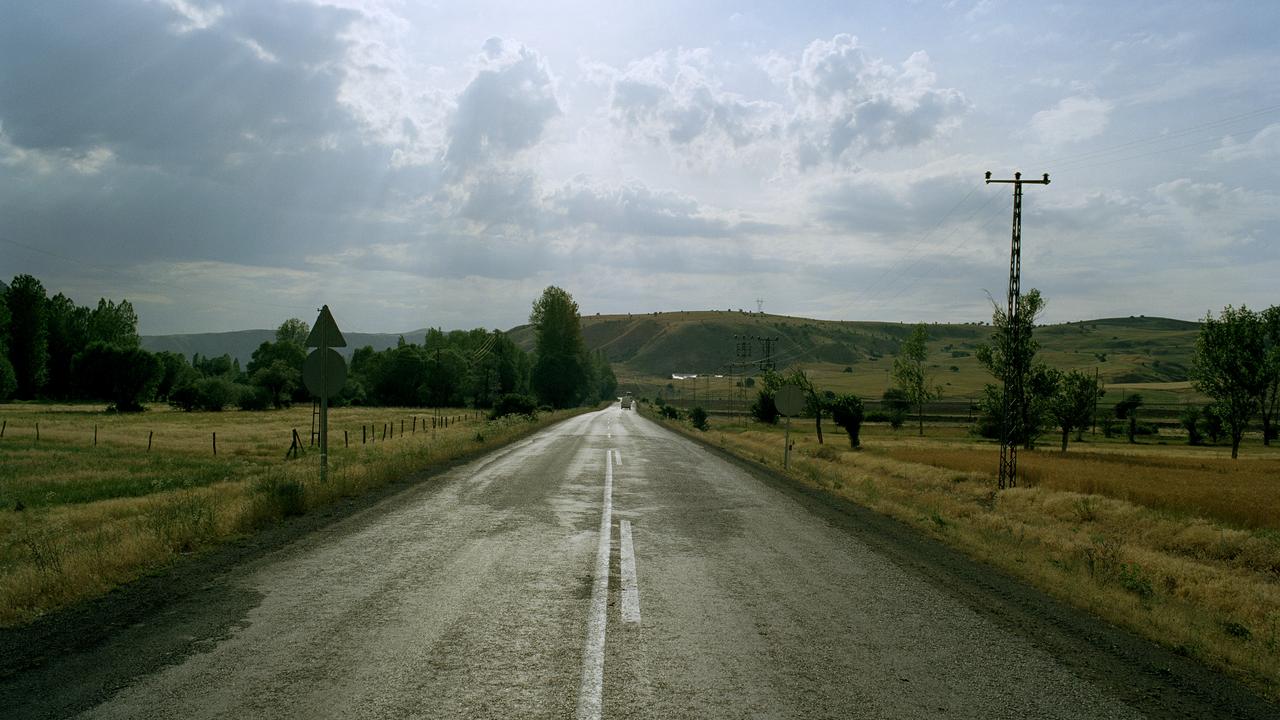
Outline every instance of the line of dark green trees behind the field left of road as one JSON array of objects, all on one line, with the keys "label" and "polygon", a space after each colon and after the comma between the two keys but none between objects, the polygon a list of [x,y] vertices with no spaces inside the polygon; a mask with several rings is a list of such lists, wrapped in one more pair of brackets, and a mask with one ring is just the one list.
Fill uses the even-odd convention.
[{"label": "line of dark green trees behind the field left of road", "polygon": [[[617,379],[603,354],[582,341],[577,304],[548,287],[534,302],[534,352],[499,331],[430,329],[421,345],[352,352],[335,405],[471,406],[529,413],[612,398]],[[47,296],[32,275],[0,283],[0,401],[104,401],[138,411],[147,402],[182,410],[285,407],[307,402],[302,382],[306,322],[291,318],[241,368],[229,354],[148,352],[133,306],[100,300],[77,306]]]}]

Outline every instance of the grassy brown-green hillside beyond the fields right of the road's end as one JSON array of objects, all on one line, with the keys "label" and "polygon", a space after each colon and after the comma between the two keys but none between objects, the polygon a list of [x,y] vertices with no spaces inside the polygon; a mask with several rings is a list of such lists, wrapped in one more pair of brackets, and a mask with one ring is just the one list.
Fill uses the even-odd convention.
[{"label": "grassy brown-green hillside beyond the fields right of the road's end", "polygon": [[[582,334],[593,350],[603,350],[620,379],[649,386],[672,373],[732,374],[735,336],[776,337],[774,360],[780,369],[803,366],[823,387],[864,396],[888,386],[897,346],[910,324],[838,322],[707,310],[646,315],[594,315],[582,318]],[[987,341],[987,324],[931,324],[929,361],[951,397],[972,397],[989,377],[974,356]],[[1190,392],[1188,368],[1197,323],[1167,318],[1106,318],[1037,328],[1041,357],[1059,369],[1097,370],[1100,379],[1117,391],[1133,386],[1148,400],[1175,401]],[[515,328],[511,337],[532,348],[532,331]],[[759,342],[750,361],[762,359]],[[846,372],[846,368],[849,369]],[[741,370],[737,370],[741,373]],[[716,393],[722,378],[704,379],[704,391]]]}]

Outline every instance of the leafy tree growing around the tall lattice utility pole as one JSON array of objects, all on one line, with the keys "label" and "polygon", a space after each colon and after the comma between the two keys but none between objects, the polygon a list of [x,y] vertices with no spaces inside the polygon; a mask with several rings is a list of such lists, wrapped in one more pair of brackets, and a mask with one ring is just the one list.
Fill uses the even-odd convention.
[{"label": "leafy tree growing around the tall lattice utility pole", "polygon": [[[1033,332],[1044,300],[1032,288],[1023,296],[1016,318],[995,302],[992,306],[991,342],[978,346],[975,356],[1002,384],[983,388],[982,410],[998,420],[1010,442],[1030,448],[1044,432],[1047,401],[1056,391],[1053,374],[1036,359],[1039,343]],[[1005,397],[1005,388],[1015,389],[1011,397]]]}]

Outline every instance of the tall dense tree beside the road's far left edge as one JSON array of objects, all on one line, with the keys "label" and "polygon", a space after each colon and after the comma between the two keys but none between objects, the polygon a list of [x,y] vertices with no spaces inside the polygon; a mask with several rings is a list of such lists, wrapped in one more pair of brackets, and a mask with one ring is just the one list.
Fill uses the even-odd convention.
[{"label": "tall dense tree beside the road's far left edge", "polygon": [[588,357],[577,302],[568,292],[550,286],[534,302],[529,323],[534,325],[532,386],[538,398],[552,407],[571,407],[586,395]]}]

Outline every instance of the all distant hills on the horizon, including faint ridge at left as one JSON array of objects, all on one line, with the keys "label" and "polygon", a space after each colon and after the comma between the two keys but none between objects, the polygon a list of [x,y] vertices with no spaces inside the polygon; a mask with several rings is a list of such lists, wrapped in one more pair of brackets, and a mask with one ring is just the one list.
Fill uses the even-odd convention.
[{"label": "all distant hills on the horizon, including faint ridge at left", "polygon": [[[813,320],[762,313],[699,310],[628,315],[588,315],[582,336],[593,351],[603,351],[609,361],[628,375],[667,377],[672,373],[723,373],[740,363],[735,336],[776,338],[773,359],[780,369],[805,366],[855,368],[883,372],[897,346],[914,325],[852,320]],[[988,324],[929,324],[933,363],[952,364],[968,372],[973,352],[989,333]],[[1050,365],[1061,369],[1098,369],[1105,382],[1148,383],[1187,379],[1190,354],[1199,323],[1169,318],[1103,318],[1037,328],[1041,354]],[[425,329],[404,333],[408,342],[420,343]],[[525,350],[534,348],[534,331],[518,325],[507,336]],[[143,336],[147,350],[170,350],[188,359],[193,352],[218,356],[229,352],[241,364],[253,350],[274,340],[274,331],[239,331]],[[398,333],[346,333],[349,356],[365,345],[375,350],[394,347]],[[763,345],[746,343],[748,363],[762,360]]]}]

